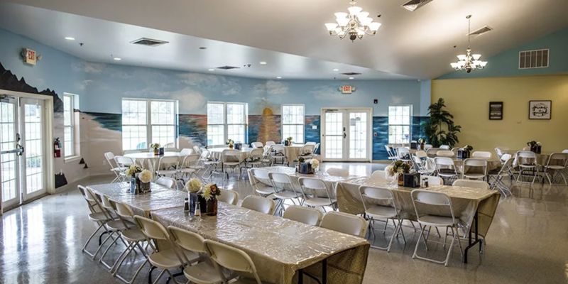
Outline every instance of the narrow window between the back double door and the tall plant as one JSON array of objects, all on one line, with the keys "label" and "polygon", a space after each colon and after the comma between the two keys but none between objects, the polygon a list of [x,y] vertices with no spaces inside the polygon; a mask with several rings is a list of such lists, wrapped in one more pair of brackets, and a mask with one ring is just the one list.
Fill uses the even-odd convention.
[{"label": "narrow window between the back double door and the tall plant", "polygon": [[388,107],[388,143],[410,143],[411,106]]}]

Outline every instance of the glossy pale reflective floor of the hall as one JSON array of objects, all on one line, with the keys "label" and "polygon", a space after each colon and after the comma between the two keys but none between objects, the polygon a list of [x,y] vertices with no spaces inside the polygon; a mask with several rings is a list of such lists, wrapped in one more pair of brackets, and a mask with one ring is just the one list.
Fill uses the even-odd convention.
[{"label": "glossy pale reflective floor of the hall", "polygon": [[[370,175],[380,164],[332,164],[355,175]],[[92,178],[86,184],[109,182]],[[219,181],[219,183],[221,183]],[[225,187],[243,198],[252,193],[248,180],[231,177]],[[364,283],[568,283],[568,187],[523,185],[513,187],[512,197],[502,197],[489,230],[484,253],[469,252],[461,263],[454,250],[449,266],[413,260],[418,234],[405,228],[407,244],[395,241],[390,253],[371,249]],[[87,205],[77,190],[44,197],[5,212],[0,226],[0,283],[121,283],[104,267],[81,253],[94,225],[87,219]],[[385,246],[389,233],[376,233],[374,243]],[[90,248],[92,249],[92,248]],[[431,252],[443,258],[444,249]],[[109,255],[107,261],[116,258]],[[140,256],[131,261],[140,263]],[[133,271],[125,266],[124,271]],[[153,273],[155,277],[158,273]],[[185,278],[177,278],[185,283]],[[144,270],[136,283],[147,283]],[[160,283],[165,283],[165,278]]]}]

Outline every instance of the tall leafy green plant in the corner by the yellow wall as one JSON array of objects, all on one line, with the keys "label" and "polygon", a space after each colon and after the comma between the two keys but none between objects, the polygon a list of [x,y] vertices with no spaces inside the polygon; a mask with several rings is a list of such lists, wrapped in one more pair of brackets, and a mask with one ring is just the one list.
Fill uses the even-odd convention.
[{"label": "tall leafy green plant in the corner by the yellow wall", "polygon": [[430,119],[420,123],[426,140],[435,148],[440,145],[454,147],[459,143],[457,133],[461,132],[461,126],[454,124],[454,116],[445,110],[445,107],[444,99],[439,98],[438,102],[430,104],[430,107],[428,107]]}]

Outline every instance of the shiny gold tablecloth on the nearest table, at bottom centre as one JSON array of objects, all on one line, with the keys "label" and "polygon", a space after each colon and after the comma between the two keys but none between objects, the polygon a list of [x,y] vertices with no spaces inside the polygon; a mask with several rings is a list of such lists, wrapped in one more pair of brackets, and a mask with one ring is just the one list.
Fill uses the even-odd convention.
[{"label": "shiny gold tablecloth on the nearest table, at bottom centre", "polygon": [[[205,239],[246,251],[261,280],[295,283],[298,269],[320,277],[327,258],[327,283],[361,283],[369,244],[366,239],[219,202],[217,217],[192,217],[180,208],[152,213],[164,226],[194,231]],[[304,283],[311,283],[304,276]]]}]

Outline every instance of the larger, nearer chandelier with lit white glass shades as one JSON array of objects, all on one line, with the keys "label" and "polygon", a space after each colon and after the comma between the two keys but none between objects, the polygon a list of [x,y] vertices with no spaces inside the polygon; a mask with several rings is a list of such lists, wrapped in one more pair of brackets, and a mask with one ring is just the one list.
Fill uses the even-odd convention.
[{"label": "larger, nearer chandelier with lit white glass shades", "polygon": [[375,35],[381,23],[373,22],[361,7],[355,6],[356,1],[350,2],[349,13],[335,13],[337,23],[326,23],[325,27],[329,35],[339,35],[343,39],[349,35],[351,41],[363,38],[363,35]]}]

